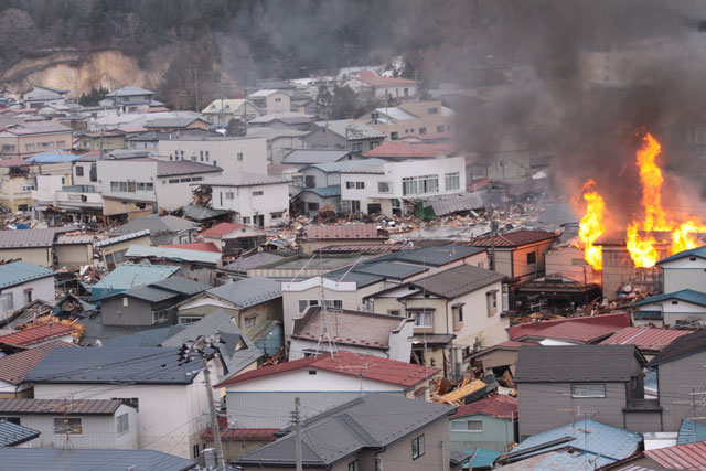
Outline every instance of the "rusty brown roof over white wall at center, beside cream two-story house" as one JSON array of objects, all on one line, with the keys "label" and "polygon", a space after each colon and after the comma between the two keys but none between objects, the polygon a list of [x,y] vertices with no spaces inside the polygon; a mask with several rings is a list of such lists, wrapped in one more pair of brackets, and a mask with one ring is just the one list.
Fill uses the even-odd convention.
[{"label": "rusty brown roof over white wall at center, beside cream two-story house", "polygon": [[[340,345],[359,345],[367,349],[387,350],[389,334],[399,332],[411,318],[376,314],[373,312],[336,309],[329,312],[330,322],[335,325],[331,340]],[[295,319],[292,339],[317,341],[324,331],[321,308],[312,307],[303,317]]]}]

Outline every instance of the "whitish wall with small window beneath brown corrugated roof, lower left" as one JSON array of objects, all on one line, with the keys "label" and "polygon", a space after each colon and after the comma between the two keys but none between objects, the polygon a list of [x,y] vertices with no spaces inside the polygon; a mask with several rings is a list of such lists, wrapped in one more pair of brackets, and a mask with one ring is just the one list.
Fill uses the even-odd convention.
[{"label": "whitish wall with small window beneath brown corrugated roof, lower left", "polygon": [[[129,420],[129,429],[118,435],[117,417],[127,414]],[[26,415],[20,416],[20,424],[24,427],[39,430],[42,435],[28,442],[28,448],[64,448],[71,443],[71,448],[77,449],[116,449],[116,450],[135,450],[138,443],[138,414],[133,407],[122,405],[118,407],[114,415],[100,416],[81,416],[68,415],[72,417],[81,417],[82,435],[54,433],[54,418],[63,418],[61,414],[56,415]]]}]

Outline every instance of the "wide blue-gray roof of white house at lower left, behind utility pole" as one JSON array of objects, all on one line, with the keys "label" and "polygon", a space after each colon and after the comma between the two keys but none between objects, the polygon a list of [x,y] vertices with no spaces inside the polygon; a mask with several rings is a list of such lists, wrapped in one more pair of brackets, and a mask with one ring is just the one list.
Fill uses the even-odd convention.
[{"label": "wide blue-gray roof of white house at lower left, behind utility pole", "polygon": [[56,347],[24,377],[40,384],[191,384],[195,364],[181,364],[180,349]]}]

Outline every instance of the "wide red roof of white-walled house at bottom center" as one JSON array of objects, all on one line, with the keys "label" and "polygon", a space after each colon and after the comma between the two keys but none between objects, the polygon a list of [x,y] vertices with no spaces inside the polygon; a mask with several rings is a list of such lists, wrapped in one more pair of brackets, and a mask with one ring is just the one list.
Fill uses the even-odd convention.
[{"label": "wide red roof of white-walled house at bottom center", "polygon": [[359,376],[361,374],[361,364],[364,365],[364,378],[396,384],[404,387],[415,386],[439,372],[437,368],[425,368],[421,365],[341,350],[333,354],[324,353],[317,356],[310,356],[308,358],[295,360],[293,362],[252,370],[242,375],[226,379],[214,387],[243,383],[258,377],[276,375],[301,368],[317,368],[349,376]]}]

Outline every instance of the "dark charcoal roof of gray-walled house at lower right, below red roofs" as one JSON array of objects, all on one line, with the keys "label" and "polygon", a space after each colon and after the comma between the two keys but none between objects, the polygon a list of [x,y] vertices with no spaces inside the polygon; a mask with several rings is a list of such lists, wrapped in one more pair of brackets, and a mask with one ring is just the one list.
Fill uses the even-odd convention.
[{"label": "dark charcoal roof of gray-walled house at lower right, below red roofs", "polygon": [[515,383],[628,382],[645,363],[634,345],[524,345]]}]

